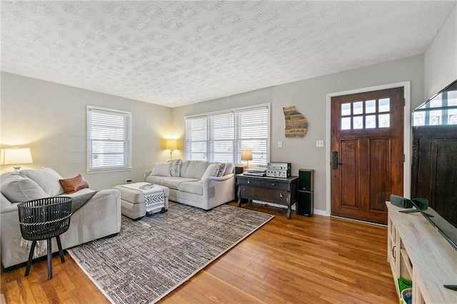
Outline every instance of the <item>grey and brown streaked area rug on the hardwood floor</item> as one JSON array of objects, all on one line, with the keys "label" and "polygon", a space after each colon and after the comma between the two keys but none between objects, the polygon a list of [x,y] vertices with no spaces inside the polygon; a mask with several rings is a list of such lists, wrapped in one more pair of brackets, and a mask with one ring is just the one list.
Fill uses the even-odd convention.
[{"label": "grey and brown streaked area rug on the hardwood floor", "polygon": [[273,216],[222,205],[203,211],[170,202],[118,235],[68,249],[111,303],[156,303]]}]

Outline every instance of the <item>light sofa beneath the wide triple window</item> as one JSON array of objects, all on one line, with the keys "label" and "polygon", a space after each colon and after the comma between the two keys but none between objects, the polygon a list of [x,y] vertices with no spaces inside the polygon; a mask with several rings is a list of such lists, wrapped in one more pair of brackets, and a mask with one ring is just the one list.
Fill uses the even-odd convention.
[{"label": "light sofa beneath the wide triple window", "polygon": [[148,183],[170,188],[170,201],[209,210],[235,198],[233,163],[172,160],[145,171]]}]

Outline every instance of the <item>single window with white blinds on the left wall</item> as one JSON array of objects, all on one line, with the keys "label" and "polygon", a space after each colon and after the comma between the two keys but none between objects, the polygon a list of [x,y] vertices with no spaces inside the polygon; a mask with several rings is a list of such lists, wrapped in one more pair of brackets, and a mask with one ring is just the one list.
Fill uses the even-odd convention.
[{"label": "single window with white blinds on the left wall", "polygon": [[131,113],[87,106],[87,171],[131,168]]}]

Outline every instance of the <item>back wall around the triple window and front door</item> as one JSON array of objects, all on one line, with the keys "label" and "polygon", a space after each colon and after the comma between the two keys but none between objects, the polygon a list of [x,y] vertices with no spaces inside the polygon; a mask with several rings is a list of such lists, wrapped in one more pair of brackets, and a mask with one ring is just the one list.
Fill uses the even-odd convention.
[{"label": "back wall around the triple window and front door", "polygon": [[[187,115],[271,103],[271,161],[291,162],[293,175],[299,168],[314,169],[314,208],[325,211],[326,148],[316,148],[316,140],[326,138],[326,94],[401,81],[411,81],[411,107],[423,103],[422,55],[174,108],[173,121],[176,129],[184,130]],[[295,106],[305,116],[309,127],[304,138],[284,136],[284,106]],[[283,148],[277,148],[278,141]]]}]

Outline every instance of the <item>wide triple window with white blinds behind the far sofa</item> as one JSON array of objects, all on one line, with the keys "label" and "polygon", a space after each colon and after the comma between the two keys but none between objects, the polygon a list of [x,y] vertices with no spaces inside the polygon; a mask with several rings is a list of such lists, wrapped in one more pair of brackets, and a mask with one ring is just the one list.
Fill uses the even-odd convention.
[{"label": "wide triple window with white blinds behind the far sofa", "polygon": [[186,117],[186,159],[242,163],[251,149],[249,166],[269,161],[269,105]]}]

